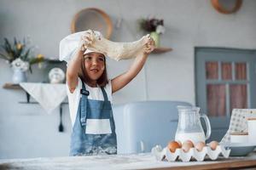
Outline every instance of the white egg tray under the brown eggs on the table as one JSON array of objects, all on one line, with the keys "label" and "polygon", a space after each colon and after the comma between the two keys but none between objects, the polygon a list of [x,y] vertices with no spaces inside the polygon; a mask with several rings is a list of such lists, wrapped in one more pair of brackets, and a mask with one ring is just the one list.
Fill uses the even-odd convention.
[{"label": "white egg tray under the brown eggs on the table", "polygon": [[206,158],[216,160],[218,159],[218,156],[228,158],[230,156],[230,151],[230,149],[225,149],[224,146],[218,145],[215,150],[212,150],[209,146],[204,146],[201,151],[198,151],[195,148],[190,148],[188,152],[184,152],[182,149],[177,149],[172,153],[167,147],[162,149],[160,145],[156,145],[152,148],[151,153],[158,161],[190,161],[193,160],[193,158],[196,161],[204,161]]}]

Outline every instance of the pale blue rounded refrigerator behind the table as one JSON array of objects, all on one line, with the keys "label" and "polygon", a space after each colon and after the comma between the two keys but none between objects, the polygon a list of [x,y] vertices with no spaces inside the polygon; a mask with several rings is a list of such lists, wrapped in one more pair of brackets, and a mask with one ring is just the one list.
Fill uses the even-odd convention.
[{"label": "pale blue rounded refrigerator behind the table", "polygon": [[183,101],[141,101],[113,105],[118,154],[150,152],[156,145],[166,147],[177,129],[177,105]]}]

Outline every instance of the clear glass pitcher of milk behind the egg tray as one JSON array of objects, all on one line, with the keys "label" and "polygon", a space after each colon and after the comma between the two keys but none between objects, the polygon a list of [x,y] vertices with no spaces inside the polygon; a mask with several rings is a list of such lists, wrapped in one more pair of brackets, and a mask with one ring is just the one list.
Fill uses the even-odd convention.
[{"label": "clear glass pitcher of milk behind the egg tray", "polygon": [[[205,142],[211,135],[211,124],[205,114],[199,113],[200,108],[195,106],[177,106],[178,123],[175,140],[183,143],[186,140],[191,140],[193,144],[197,142]],[[200,118],[203,118],[207,125],[207,134],[201,126]]]}]

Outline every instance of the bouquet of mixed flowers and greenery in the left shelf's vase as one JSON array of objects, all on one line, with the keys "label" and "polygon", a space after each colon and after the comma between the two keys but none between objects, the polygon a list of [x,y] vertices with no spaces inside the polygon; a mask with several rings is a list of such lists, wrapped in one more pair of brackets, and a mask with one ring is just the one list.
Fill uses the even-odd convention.
[{"label": "bouquet of mixed flowers and greenery in the left shelf's vase", "polygon": [[18,42],[14,38],[14,43],[10,43],[7,38],[4,38],[0,58],[6,59],[14,69],[20,69],[21,71],[27,71],[29,69],[32,72],[31,66],[37,63],[39,64],[45,59],[43,54],[33,54],[32,49],[34,47],[27,47],[27,45],[28,42],[26,42],[25,38],[23,42]]}]

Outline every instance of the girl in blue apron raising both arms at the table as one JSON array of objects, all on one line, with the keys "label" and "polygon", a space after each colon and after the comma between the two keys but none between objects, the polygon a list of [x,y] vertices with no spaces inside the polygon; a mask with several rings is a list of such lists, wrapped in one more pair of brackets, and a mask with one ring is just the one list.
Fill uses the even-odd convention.
[{"label": "girl in blue apron raising both arms at the table", "polygon": [[67,65],[67,94],[73,122],[70,156],[117,153],[112,94],[137,76],[154,49],[150,39],[128,71],[108,80],[106,56],[87,49],[91,41],[84,33]]}]

